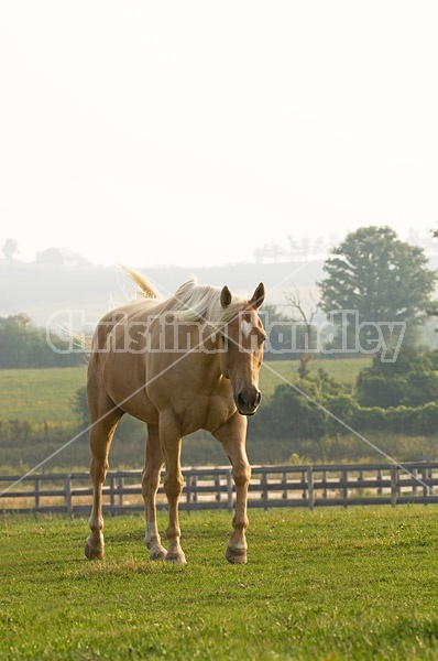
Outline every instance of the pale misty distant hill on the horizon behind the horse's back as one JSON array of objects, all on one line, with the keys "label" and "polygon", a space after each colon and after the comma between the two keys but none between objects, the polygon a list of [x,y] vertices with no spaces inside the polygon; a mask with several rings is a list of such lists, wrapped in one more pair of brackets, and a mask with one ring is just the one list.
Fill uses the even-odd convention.
[{"label": "pale misty distant hill on the horizon behind the horse's back", "polygon": [[[52,256],[53,257],[53,256]],[[322,261],[267,264],[228,264],[186,269],[180,267],[134,267],[163,293],[171,295],[195,275],[199,282],[222,286],[237,294],[252,294],[260,281],[265,283],[267,301],[280,303],[294,286],[315,290],[322,277]],[[132,264],[129,264],[132,266]],[[25,312],[36,325],[44,326],[58,310],[84,311],[95,323],[113,304],[132,297],[135,285],[117,267],[99,267],[56,259],[32,263],[0,260],[0,316]]]}]

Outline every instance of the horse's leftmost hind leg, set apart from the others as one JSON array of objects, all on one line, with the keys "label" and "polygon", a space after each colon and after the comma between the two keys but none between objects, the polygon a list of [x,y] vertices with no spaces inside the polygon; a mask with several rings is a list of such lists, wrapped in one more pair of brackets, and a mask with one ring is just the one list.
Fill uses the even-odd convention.
[{"label": "horse's leftmost hind leg, set apart from the others", "polygon": [[89,519],[90,535],[85,544],[88,560],[103,557],[103,518],[102,518],[102,486],[108,470],[108,453],[117,424],[122,411],[109,410],[91,424],[90,430],[90,476],[92,481],[92,510]]}]

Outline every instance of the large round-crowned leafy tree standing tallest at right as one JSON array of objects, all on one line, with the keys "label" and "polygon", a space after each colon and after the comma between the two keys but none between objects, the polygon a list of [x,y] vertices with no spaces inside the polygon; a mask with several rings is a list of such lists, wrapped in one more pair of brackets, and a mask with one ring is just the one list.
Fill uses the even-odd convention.
[{"label": "large round-crowned leafy tree standing tallest at right", "polygon": [[413,328],[424,318],[437,278],[426,264],[423,248],[401,241],[390,227],[362,227],[325,262],[321,307],[328,315],[352,311],[350,325],[405,322]]}]

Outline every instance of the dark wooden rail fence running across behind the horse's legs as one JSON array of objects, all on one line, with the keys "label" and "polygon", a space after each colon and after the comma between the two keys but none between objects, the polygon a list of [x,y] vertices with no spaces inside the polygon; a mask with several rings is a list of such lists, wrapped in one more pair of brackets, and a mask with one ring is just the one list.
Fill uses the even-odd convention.
[{"label": "dark wooden rail fence running across behind the horse's legs", "polygon": [[[179,508],[234,507],[234,484],[229,466],[184,468]],[[18,481],[20,480],[20,481]],[[15,486],[11,487],[14,483]],[[435,487],[437,489],[435,490]],[[7,490],[9,488],[9,490]],[[7,491],[6,491],[7,490]],[[4,492],[3,492],[4,491]],[[103,486],[107,513],[143,510],[141,472],[109,472]],[[39,474],[24,478],[0,476],[0,511],[89,513],[92,489],[87,473]],[[438,502],[438,462],[314,466],[255,466],[249,486],[250,508]],[[164,489],[157,507],[166,508]]]}]

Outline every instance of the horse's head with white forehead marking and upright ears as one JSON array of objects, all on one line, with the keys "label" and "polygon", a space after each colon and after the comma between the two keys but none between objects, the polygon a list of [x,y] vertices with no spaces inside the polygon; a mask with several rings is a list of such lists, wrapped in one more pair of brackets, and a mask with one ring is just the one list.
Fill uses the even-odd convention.
[{"label": "horse's head with white forehead marking and upright ears", "polygon": [[[262,393],[259,390],[259,372],[263,360],[263,329],[258,310],[264,301],[264,284],[260,283],[252,299],[223,326],[221,337],[220,368],[230,379],[236,405],[242,415],[253,415]],[[225,286],[220,294],[223,308],[231,303],[231,292]]]}]

